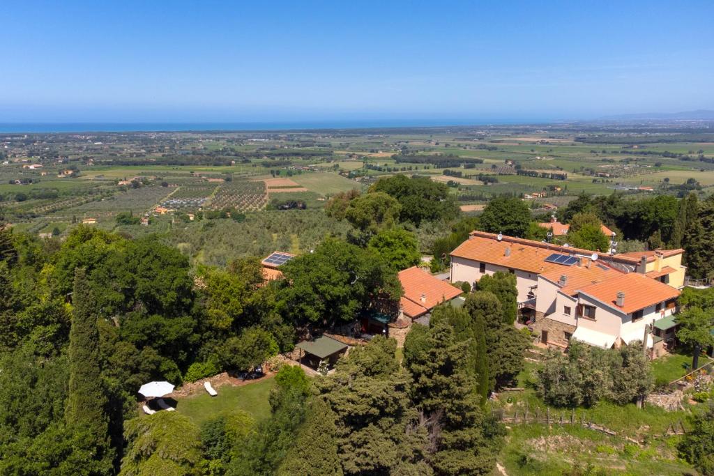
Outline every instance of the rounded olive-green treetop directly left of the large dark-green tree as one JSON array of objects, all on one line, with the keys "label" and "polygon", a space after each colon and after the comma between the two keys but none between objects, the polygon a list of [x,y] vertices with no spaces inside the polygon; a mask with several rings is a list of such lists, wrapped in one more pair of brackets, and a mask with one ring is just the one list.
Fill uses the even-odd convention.
[{"label": "rounded olive-green treetop directly left of the large dark-green tree", "polygon": [[350,201],[345,218],[362,233],[373,235],[393,227],[400,211],[399,202],[387,193],[366,193]]}]

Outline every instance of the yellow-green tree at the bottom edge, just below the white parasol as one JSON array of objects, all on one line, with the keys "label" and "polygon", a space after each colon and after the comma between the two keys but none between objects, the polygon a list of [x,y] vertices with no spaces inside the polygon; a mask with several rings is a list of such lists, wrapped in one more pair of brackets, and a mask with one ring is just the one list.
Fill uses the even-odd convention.
[{"label": "yellow-green tree at the bottom edge, just below the white parasol", "polygon": [[178,412],[156,412],[125,422],[121,476],[201,475],[196,425]]}]

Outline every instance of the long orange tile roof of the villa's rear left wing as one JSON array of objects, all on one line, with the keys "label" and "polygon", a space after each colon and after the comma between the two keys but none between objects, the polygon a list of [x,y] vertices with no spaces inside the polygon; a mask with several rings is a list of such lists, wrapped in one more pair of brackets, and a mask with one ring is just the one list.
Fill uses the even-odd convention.
[{"label": "long orange tile roof of the villa's rear left wing", "polygon": [[[451,255],[540,274],[567,268],[557,263],[545,262],[545,258],[548,258],[553,253],[571,254],[578,252],[580,255],[587,256],[593,253],[588,250],[548,245],[548,243],[541,243],[540,241],[524,240],[510,236],[504,236],[501,241],[495,238],[496,235],[492,233],[474,231],[471,233],[471,238],[458,245],[456,250],[451,252]],[[506,256],[507,248],[511,249],[511,255],[509,256]]]}]

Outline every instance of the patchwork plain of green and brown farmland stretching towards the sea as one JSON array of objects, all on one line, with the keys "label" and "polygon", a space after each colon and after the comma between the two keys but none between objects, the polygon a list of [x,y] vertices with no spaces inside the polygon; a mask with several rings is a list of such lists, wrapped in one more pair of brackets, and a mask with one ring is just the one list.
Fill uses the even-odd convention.
[{"label": "patchwork plain of green and brown farmland stretching towards the sea", "polygon": [[[534,202],[564,206],[580,193],[625,193],[637,199],[682,196],[693,189],[705,196],[714,187],[714,137],[706,130],[623,133],[617,125],[563,123],[320,133],[101,133],[96,143],[36,134],[1,136],[0,142],[6,162],[0,163],[0,212],[18,229],[59,231],[60,239],[79,218],[97,218],[101,228],[144,236],[176,233],[174,213],[223,208],[283,213],[303,206],[308,210],[291,213],[321,213],[334,194],[353,188],[364,192],[377,178],[396,173],[451,182],[450,193],[466,206],[465,213],[478,213],[501,195],[545,192]],[[424,159],[397,161],[401,153]],[[468,168],[461,160],[473,158],[480,161]],[[29,163],[42,167],[29,168]],[[550,173],[567,178],[556,180]],[[135,183],[118,186],[124,180]],[[169,213],[151,213],[157,205]],[[114,217],[126,211],[148,213],[151,223],[117,225]],[[193,233],[206,234],[202,225]],[[299,247],[307,234],[296,231],[280,244]],[[201,247],[201,253],[210,250]]]}]

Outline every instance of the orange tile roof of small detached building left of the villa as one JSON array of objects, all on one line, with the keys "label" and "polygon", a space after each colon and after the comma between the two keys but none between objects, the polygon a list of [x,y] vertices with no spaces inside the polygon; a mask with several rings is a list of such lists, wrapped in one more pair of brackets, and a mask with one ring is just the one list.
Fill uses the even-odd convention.
[{"label": "orange tile roof of small detached building left of the villa", "polygon": [[[444,301],[452,300],[456,296],[461,295],[462,291],[449,283],[445,283],[438,278],[434,278],[431,274],[413,266],[398,273],[399,282],[404,290],[402,300],[408,300],[413,305],[426,310],[431,310],[436,305]],[[426,300],[421,301],[421,296],[424,295]],[[418,317],[416,313],[418,309],[413,305],[403,305],[404,314],[410,317]],[[426,310],[424,312],[426,312]]]}]

